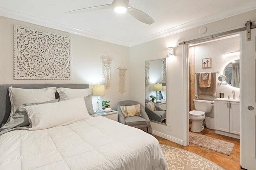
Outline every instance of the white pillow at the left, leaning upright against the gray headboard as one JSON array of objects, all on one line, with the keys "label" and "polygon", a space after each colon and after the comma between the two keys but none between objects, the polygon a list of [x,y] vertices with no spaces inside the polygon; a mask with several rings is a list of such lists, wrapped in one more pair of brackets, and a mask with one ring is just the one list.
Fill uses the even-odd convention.
[{"label": "white pillow at the left, leaning upright against the gray headboard", "polygon": [[55,99],[56,87],[47,87],[44,89],[20,89],[9,87],[9,96],[11,102],[10,117],[17,108],[25,103],[39,103]]}]

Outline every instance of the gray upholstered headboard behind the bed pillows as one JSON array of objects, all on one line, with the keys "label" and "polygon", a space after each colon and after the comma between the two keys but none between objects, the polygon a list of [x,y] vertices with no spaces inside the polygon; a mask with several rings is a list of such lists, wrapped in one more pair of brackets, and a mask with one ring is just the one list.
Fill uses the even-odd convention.
[{"label": "gray upholstered headboard behind the bed pillows", "polygon": [[[20,85],[0,85],[0,125],[6,123],[10,112],[11,112],[11,103],[8,88],[16,87],[22,89],[42,89],[46,87],[65,87],[70,89],[88,89],[88,84],[20,84]],[[55,94],[56,99],[59,98],[59,94]]]}]

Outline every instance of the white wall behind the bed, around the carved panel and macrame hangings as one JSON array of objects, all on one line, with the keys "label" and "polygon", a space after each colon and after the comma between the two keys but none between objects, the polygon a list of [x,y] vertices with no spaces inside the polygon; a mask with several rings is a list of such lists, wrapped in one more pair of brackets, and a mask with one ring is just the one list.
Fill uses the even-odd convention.
[{"label": "white wall behind the bed, around the carved panel and macrame hangings", "polygon": [[[71,38],[71,80],[14,80],[14,24],[28,26],[70,36]],[[94,84],[102,84],[102,60],[100,57],[107,51],[111,61],[111,86],[106,89],[106,95],[101,100],[110,101],[112,109],[116,103],[129,99],[129,47],[116,45],[104,41],[77,36],[10,18],[0,18],[0,84],[26,84],[26,83],[88,83],[90,88]],[[118,92],[118,67],[124,63],[126,70],[126,92]],[[92,97],[94,109],[97,109],[97,97]]]}]

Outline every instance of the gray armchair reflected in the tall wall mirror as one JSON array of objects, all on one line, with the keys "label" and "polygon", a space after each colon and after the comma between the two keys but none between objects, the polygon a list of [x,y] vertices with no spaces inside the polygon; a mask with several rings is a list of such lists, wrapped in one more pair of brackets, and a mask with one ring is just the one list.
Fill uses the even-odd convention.
[{"label": "gray armchair reflected in the tall wall mirror", "polygon": [[[148,99],[145,99],[145,103],[150,102]],[[162,122],[166,119],[166,111],[160,108],[158,105],[154,104],[156,107],[156,111],[152,111],[147,105],[145,105],[146,113],[150,120]]]}]

